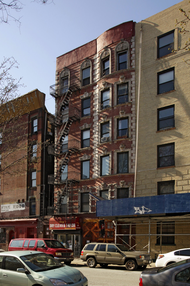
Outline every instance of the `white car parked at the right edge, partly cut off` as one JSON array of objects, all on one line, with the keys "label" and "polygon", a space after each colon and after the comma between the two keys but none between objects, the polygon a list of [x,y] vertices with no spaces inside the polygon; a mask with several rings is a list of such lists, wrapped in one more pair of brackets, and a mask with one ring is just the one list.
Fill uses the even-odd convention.
[{"label": "white car parked at the right edge, partly cut off", "polygon": [[178,249],[164,254],[159,254],[156,267],[164,267],[172,263],[190,258],[190,248]]}]

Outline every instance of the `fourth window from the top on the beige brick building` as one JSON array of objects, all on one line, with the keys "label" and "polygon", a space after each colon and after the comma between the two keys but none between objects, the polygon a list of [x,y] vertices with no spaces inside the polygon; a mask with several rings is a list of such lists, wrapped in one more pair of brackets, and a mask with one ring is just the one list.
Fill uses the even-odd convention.
[{"label": "fourth window from the top on the beige brick building", "polygon": [[158,168],[174,166],[174,143],[158,146]]}]

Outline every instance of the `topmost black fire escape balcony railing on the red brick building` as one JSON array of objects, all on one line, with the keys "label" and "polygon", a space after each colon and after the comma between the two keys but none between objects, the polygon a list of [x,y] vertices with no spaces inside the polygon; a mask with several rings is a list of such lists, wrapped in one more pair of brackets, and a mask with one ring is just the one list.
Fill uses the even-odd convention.
[{"label": "topmost black fire escape balcony railing on the red brick building", "polygon": [[80,90],[81,81],[78,77],[70,77],[68,80],[68,85],[65,82],[58,82],[50,86],[50,95],[54,98],[60,97],[62,94],[66,93],[68,89],[72,92]]}]

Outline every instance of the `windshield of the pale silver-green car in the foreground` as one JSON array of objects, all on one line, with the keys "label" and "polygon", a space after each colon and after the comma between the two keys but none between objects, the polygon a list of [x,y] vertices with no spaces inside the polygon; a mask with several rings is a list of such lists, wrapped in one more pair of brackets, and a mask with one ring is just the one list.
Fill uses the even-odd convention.
[{"label": "windshield of the pale silver-green car in the foreground", "polygon": [[45,271],[65,266],[46,253],[29,254],[20,258],[34,271]]}]

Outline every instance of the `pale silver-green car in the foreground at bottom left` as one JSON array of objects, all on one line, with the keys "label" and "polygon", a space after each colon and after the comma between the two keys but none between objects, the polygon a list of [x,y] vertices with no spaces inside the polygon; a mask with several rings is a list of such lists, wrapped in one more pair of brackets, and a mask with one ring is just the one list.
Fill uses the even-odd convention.
[{"label": "pale silver-green car in the foreground at bottom left", "polygon": [[39,251],[2,252],[0,268],[1,285],[88,285],[87,278],[79,270]]}]

